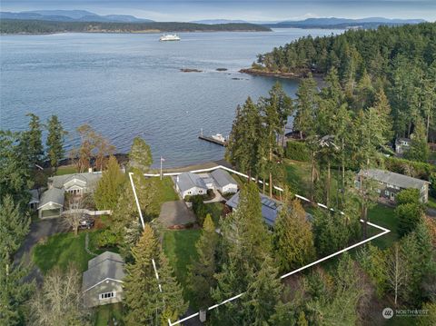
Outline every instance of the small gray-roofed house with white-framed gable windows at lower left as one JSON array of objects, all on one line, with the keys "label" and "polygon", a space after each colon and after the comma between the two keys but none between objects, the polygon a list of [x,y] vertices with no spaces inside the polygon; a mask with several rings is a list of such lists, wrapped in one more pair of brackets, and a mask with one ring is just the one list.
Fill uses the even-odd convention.
[{"label": "small gray-roofed house with white-framed gable windows at lower left", "polygon": [[123,301],[124,260],[114,252],[103,252],[88,262],[82,291],[87,308]]}]

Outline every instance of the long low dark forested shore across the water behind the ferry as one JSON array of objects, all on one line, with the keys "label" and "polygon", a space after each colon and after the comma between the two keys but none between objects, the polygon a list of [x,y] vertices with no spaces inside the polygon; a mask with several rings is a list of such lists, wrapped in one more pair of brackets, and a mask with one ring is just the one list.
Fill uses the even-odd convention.
[{"label": "long low dark forested shore across the water behind the ferry", "polygon": [[220,31],[271,31],[269,27],[254,24],[204,25],[193,23],[99,23],[99,22],[50,22],[41,20],[3,19],[1,34],[47,34],[47,33],[147,33],[147,32],[220,32]]}]

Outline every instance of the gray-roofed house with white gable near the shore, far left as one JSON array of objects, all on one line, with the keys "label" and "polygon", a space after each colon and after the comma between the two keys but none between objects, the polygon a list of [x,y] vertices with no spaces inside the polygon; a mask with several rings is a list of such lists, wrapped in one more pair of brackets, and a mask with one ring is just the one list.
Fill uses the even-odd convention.
[{"label": "gray-roofed house with white gable near the shore, far left", "polygon": [[94,172],[54,175],[48,178],[48,187],[64,189],[74,195],[93,193],[101,177],[102,173]]}]

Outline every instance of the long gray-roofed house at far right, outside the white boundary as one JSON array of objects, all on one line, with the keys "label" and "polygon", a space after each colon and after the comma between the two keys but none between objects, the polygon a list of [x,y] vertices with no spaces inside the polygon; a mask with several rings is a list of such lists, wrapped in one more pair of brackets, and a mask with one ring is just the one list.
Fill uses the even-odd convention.
[{"label": "long gray-roofed house at far right, outside the white boundary", "polygon": [[429,182],[421,179],[412,178],[400,173],[380,169],[361,170],[357,174],[356,187],[360,187],[360,178],[370,178],[379,183],[377,193],[380,193],[381,200],[395,203],[397,193],[403,189],[418,189],[420,191],[421,203],[429,200]]}]

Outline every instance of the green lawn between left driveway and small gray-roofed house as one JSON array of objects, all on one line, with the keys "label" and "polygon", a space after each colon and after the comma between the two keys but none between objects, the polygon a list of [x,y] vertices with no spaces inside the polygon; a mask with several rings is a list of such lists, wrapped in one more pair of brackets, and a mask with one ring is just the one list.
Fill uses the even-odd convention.
[{"label": "green lawn between left driveway and small gray-roofed house", "polygon": [[74,237],[73,232],[54,234],[45,243],[39,243],[33,250],[35,264],[43,273],[49,272],[54,266],[66,269],[73,262],[79,272],[84,272],[88,261],[93,258],[84,251],[84,234],[79,232]]}]

